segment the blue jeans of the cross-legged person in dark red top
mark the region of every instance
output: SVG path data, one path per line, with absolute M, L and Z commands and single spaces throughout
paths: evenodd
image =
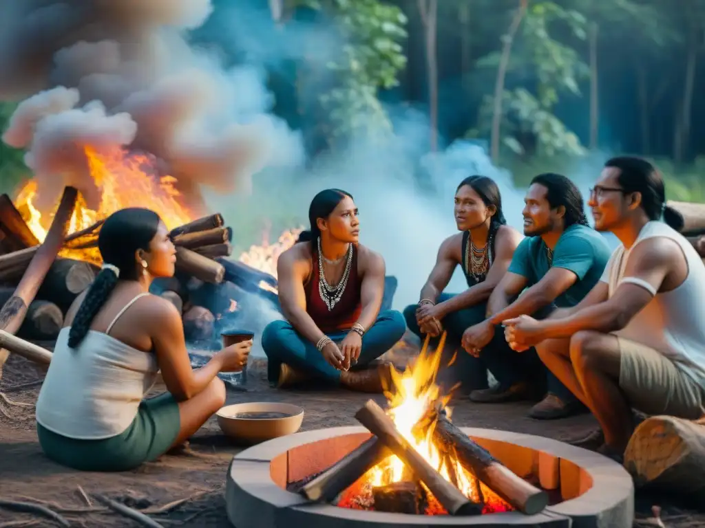
M 381 312 L 374 325 L 362 337 L 362 352 L 355 369 L 369 365 L 399 341 L 406 330 L 403 316 L 394 310 Z M 326 334 L 333 341 L 342 341 L 347 330 Z M 317 350 L 316 344 L 299 334 L 288 321 L 272 321 L 262 332 L 262 348 L 267 357 L 269 381 L 276 383 L 282 363 L 307 372 L 330 384 L 338 384 L 341 371 L 330 365 Z

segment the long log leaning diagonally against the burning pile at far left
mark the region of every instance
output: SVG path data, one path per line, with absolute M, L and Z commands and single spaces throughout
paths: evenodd
M 23 275 L 20 284 L 15 289 L 15 293 L 0 310 L 0 329 L 14 334 L 22 325 L 27 314 L 27 307 L 37 295 L 44 277 L 49 272 L 51 264 L 54 263 L 56 255 L 59 254 L 61 246 L 63 246 L 68 222 L 71 220 L 76 199 L 78 199 L 78 191 L 73 187 L 66 187 L 61 196 L 59 208 L 56 210 L 56 215 L 54 215 L 54 220 L 51 222 L 51 227 L 49 227 L 49 232 L 47 232 L 47 237 L 32 258 L 25 275 Z M 0 369 L 5 364 L 7 356 L 7 352 L 0 351 Z

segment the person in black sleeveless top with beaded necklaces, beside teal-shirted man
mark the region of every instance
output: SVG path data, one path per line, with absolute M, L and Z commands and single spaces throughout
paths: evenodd
M 484 321 L 486 301 L 507 271 L 522 235 L 506 225 L 499 188 L 485 176 L 470 176 L 458 185 L 455 224 L 460 233 L 441 244 L 436 265 L 421 289 L 421 300 L 407 306 L 404 318 L 422 339 L 423 334 L 436 337 L 443 329 L 448 332 L 439 384 L 448 390 L 460 383 L 460 394 L 469 394 L 487 388 L 487 367 L 462 349 L 462 333 Z M 457 295 L 441 293 L 458 265 L 468 289 Z

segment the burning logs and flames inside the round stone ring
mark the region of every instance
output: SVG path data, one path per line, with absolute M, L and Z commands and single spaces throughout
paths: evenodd
M 445 334 L 438 350 L 443 348 Z M 341 508 L 419 515 L 534 515 L 546 491 L 518 477 L 450 419 L 450 394 L 435 383 L 441 353 L 429 351 L 393 372 L 387 410 L 374 401 L 355 417 L 374 436 L 319 474 L 288 486 Z

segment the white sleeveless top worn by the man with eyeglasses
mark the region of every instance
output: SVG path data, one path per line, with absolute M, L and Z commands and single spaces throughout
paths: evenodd
M 688 275 L 672 291 L 658 293 L 651 284 L 637 277 L 624 277 L 632 249 L 653 237 L 675 241 L 687 260 Z M 661 352 L 705 388 L 705 265 L 702 259 L 685 237 L 663 222 L 646 223 L 632 249 L 625 250 L 622 244 L 615 249 L 602 281 L 609 286 L 609 296 L 613 296 L 621 282 L 630 282 L 647 289 L 654 298 L 625 328 L 614 333 Z

